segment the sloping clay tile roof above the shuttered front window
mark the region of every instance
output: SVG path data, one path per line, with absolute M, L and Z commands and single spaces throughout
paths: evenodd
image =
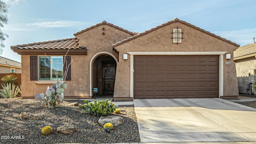
M 67 38 L 62 40 L 52 40 L 47 42 L 37 42 L 31 44 L 22 44 L 11 46 L 11 49 L 66 49 L 79 48 L 79 40 L 77 38 Z

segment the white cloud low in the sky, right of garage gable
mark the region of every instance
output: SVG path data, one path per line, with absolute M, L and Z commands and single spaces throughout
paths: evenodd
M 246 28 L 241 30 L 232 30 L 232 31 L 216 31 L 214 34 L 231 40 L 244 46 L 246 44 L 251 44 L 253 42 L 252 38 L 256 37 L 256 28 Z

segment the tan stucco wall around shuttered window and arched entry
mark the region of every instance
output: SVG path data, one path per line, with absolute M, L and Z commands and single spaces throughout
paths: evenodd
M 105 30 L 102 30 L 104 28 Z M 104 32 L 104 35 L 102 35 Z M 78 34 L 80 46 L 88 46 L 87 55 L 72 55 L 71 81 L 66 81 L 68 87 L 64 94 L 67 97 L 87 98 L 90 96 L 90 60 L 98 52 L 110 52 L 118 59 L 118 54 L 112 50 L 112 44 L 132 35 L 103 24 Z M 97 56 L 95 57 L 97 58 Z M 94 59 L 95 59 L 94 58 Z M 22 55 L 22 97 L 31 98 L 36 93 L 45 93 L 51 84 L 37 84 L 30 81 L 30 56 Z

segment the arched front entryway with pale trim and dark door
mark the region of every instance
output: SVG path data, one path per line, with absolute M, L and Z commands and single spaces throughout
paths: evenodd
M 95 54 L 90 62 L 90 96 L 93 88 L 98 88 L 98 95 L 114 94 L 117 58 L 109 52 Z

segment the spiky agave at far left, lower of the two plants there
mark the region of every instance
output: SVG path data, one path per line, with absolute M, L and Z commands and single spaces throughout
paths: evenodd
M 2 89 L 0 90 L 0 95 L 3 96 L 4 98 L 14 98 L 18 94 L 21 94 L 21 90 L 19 86 L 16 86 L 14 83 L 11 85 L 9 84 L 4 84 L 2 85 Z

